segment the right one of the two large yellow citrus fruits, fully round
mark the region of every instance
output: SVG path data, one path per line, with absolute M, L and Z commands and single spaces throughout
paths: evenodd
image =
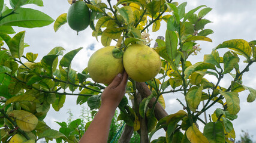
M 143 44 L 128 46 L 124 52 L 123 63 L 128 76 L 137 82 L 152 79 L 161 69 L 158 53 Z

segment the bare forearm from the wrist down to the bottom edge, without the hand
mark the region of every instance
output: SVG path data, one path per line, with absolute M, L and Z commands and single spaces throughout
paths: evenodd
M 109 129 L 116 108 L 109 105 L 101 105 L 100 110 L 92 120 L 91 125 L 86 130 L 85 135 L 80 140 L 80 143 L 86 142 L 107 142 Z

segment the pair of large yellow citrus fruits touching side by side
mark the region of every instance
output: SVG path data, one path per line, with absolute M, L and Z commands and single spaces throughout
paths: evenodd
M 92 80 L 109 84 L 118 73 L 124 70 L 131 79 L 146 82 L 158 74 L 161 69 L 161 59 L 158 53 L 143 44 L 128 46 L 122 58 L 113 57 L 115 46 L 99 49 L 88 61 L 88 71 Z

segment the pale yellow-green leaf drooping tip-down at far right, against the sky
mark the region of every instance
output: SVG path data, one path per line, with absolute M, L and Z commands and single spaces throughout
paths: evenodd
M 219 93 L 226 99 L 228 112 L 236 115 L 240 110 L 239 95 L 236 92 L 224 92 L 221 90 L 219 90 Z

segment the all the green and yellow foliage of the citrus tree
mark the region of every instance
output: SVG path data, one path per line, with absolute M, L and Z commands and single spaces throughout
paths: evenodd
M 110 0 L 107 1 L 108 5 L 101 1 L 85 2 L 92 14 L 92 35 L 96 39 L 101 36 L 104 46 L 119 40 L 121 48 L 125 50 L 131 43 L 145 42 L 141 33 L 149 31 L 150 26 L 152 32 L 155 32 L 159 30 L 161 22 L 167 22 L 165 41 L 156 40 L 158 46 L 155 51 L 162 58 L 159 78 L 146 82 L 152 94 L 139 104 L 136 103 L 134 108 L 128 105 L 128 98 L 124 97 L 119 104 L 121 114 L 118 120 L 124 120 L 140 133 L 141 120 L 146 119 L 149 138 L 157 130 L 164 128 L 166 135 L 152 142 L 231 142 L 229 138 L 235 138 L 231 120 L 237 118 L 236 114 L 240 110 L 239 92 L 249 91 L 248 102 L 253 102 L 256 98 L 255 89 L 242 84 L 243 73 L 249 71 L 249 66 L 256 61 L 256 41 L 225 41 L 216 46 L 211 54 L 204 55 L 204 61 L 192 64 L 188 57 L 198 50 L 196 41 L 212 41 L 206 36 L 213 31 L 204 29 L 210 21 L 203 18 L 211 8 L 201 5 L 185 13 L 186 2 L 179 5 L 168 0 L 120 0 L 113 6 Z M 13 9 L 9 10 L 3 1 L 0 3 L 0 40 L 8 46 L 5 49 L 1 45 L 0 51 L 0 96 L 3 97 L 0 110 L 1 141 L 8 142 L 11 136 L 19 133 L 32 142 L 41 138 L 46 141 L 55 138 L 58 142 L 61 139 L 77 142 L 77 132 L 68 130 L 76 129 L 75 124 L 82 121 L 74 120 L 69 125 L 59 123 L 63 128 L 59 131 L 50 129 L 43 122 L 50 105 L 59 111 L 66 95 L 77 95 L 77 104 L 87 102 L 91 110 L 95 110 L 100 107 L 101 92 L 106 85 L 90 82 L 87 69 L 81 73 L 71 69 L 74 56 L 82 48 L 64 55 L 64 48 L 55 47 L 38 62 L 37 54 L 28 52 L 23 55 L 23 48 L 27 46 L 24 43 L 25 32 L 19 32 L 11 38 L 8 35 L 14 33 L 11 26 L 41 27 L 53 21 L 40 11 L 22 8 L 22 5 L 30 3 L 43 5 L 41 0 L 11 0 Z M 198 14 L 195 14 L 198 10 Z M 55 31 L 67 22 L 65 15 L 57 18 Z M 222 57 L 217 51 L 221 48 L 228 48 Z M 59 57 L 62 57 L 61 60 Z M 240 57 L 246 59 L 247 66 L 244 69 L 239 67 Z M 206 74 L 215 76 L 218 82 L 210 82 L 204 78 Z M 233 77 L 230 86 L 219 86 L 219 82 L 228 74 Z M 136 91 L 135 82 L 130 79 L 127 84 L 129 99 L 137 100 Z M 165 108 L 163 95 L 173 92 L 183 93 L 184 97 L 180 98 L 186 102 L 184 104 L 179 101 L 184 110 L 157 120 L 153 114 L 156 102 L 153 108 L 149 108 L 150 100 L 156 98 L 162 108 Z M 203 108 L 198 108 L 202 101 L 206 101 L 206 104 Z M 200 115 L 215 104 L 222 107 L 216 108 L 210 122 L 205 123 Z M 205 124 L 203 133 L 198 129 L 198 121 Z

